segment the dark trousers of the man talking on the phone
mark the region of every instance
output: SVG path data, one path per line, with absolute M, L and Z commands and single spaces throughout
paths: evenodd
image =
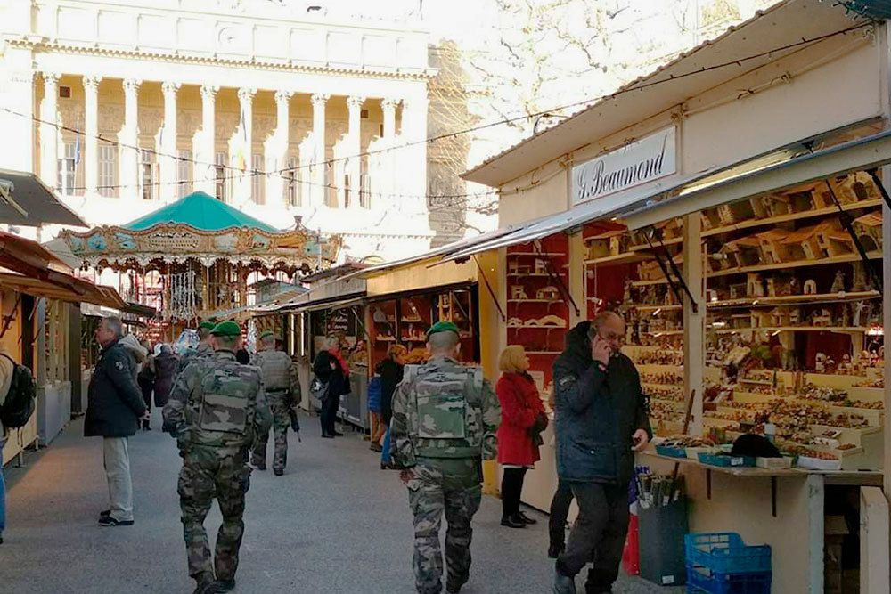
M 578 518 L 566 550 L 557 558 L 557 571 L 576 575 L 593 560 L 585 591 L 609 592 L 618 577 L 628 533 L 628 487 L 576 482 L 569 487 L 578 502 Z

